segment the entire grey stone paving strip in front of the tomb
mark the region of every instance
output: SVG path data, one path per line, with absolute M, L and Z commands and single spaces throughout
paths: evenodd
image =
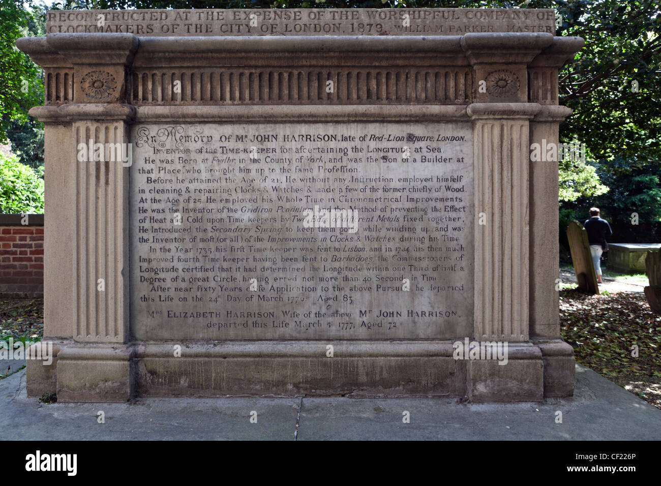
M 24 370 L 0 381 L 3 440 L 658 440 L 661 410 L 583 366 L 573 399 L 217 398 L 54 403 L 25 392 Z M 300 415 L 299 415 L 300 408 Z M 97 423 L 104 411 L 105 423 Z M 250 422 L 251 411 L 257 423 Z M 410 423 L 403 423 L 403 411 Z M 556 423 L 556 412 L 563 423 Z M 297 421 L 298 419 L 298 421 Z M 295 433 L 297 432 L 297 435 Z

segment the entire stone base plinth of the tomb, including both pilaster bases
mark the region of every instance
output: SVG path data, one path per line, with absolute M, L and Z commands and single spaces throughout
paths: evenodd
M 98 402 L 241 395 L 511 402 L 568 397 L 574 389 L 574 352 L 561 340 L 508 343 L 506 359 L 495 353 L 455 359 L 453 341 L 161 341 L 57 349 L 50 366 L 28 361 L 28 395 Z

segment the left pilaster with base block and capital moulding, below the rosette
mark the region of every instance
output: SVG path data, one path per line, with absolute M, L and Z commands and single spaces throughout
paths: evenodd
M 56 380 L 61 401 L 125 401 L 132 396 L 134 381 L 133 350 L 127 344 L 128 164 L 132 161 L 128 126 L 136 110 L 124 104 L 73 103 L 33 108 L 30 113 L 51 127 L 48 132 L 58 127 L 59 151 L 68 158 L 56 171 L 70 178 L 46 200 L 47 206 L 65 208 L 71 225 L 71 238 L 56 244 L 46 259 L 44 283 L 52 289 L 52 297 L 61 282 L 72 289 L 71 302 L 49 300 L 46 308 L 47 317 L 56 317 L 53 309 L 63 306 L 72 321 L 67 327 L 48 323 L 52 329 L 64 329 L 65 338 L 71 340 L 58 346 L 57 373 L 49 376 Z M 55 236 L 58 231 L 50 229 Z M 70 274 L 51 271 L 50 266 Z M 31 365 L 30 376 L 45 373 Z M 89 379 L 81 382 L 81 374 Z

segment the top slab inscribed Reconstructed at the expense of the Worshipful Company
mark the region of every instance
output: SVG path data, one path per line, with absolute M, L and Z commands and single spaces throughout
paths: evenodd
M 552 9 L 196 9 L 48 11 L 46 33 L 136 36 L 461 36 L 549 32 Z

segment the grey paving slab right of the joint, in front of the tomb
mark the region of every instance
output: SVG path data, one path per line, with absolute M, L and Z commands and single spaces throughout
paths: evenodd
M 661 410 L 576 366 L 573 399 L 544 403 L 306 398 L 299 440 L 658 440 Z M 403 423 L 403 412 L 410 423 Z M 556 423 L 556 412 L 562 423 Z

